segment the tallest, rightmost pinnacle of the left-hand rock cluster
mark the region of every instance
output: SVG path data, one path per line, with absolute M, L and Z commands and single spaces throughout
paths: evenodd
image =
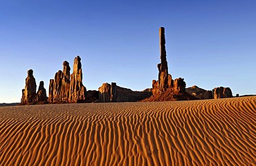
M 80 56 L 75 57 L 73 65 L 73 74 L 71 74 L 71 83 L 69 91 L 70 103 L 77 103 L 85 100 L 86 88 L 82 84 L 82 64 Z

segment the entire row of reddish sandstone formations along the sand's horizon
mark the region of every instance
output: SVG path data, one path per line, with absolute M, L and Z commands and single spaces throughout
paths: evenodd
M 134 102 L 134 101 L 183 101 L 211 98 L 232 97 L 229 87 L 215 87 L 213 90 L 203 90 L 199 87 L 186 87 L 184 79 L 172 79 L 168 73 L 167 54 L 165 49 L 165 28 L 159 29 L 160 59 L 158 63 L 158 80 L 152 81 L 152 88 L 132 91 L 120 87 L 116 83 L 103 83 L 96 90 L 86 91 L 82 83 L 82 63 L 80 56 L 76 56 L 73 63 L 73 73 L 67 61 L 63 62 L 63 69 L 55 73 L 50 80 L 48 97 L 44 88 L 44 81 L 40 81 L 36 92 L 36 81 L 33 70 L 28 70 L 25 89 L 22 90 L 21 105 L 44 103 L 92 103 L 92 102 Z M 188 91 L 188 92 L 187 92 Z

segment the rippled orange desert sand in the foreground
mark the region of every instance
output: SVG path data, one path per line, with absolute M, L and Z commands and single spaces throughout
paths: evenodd
M 0 107 L 0 165 L 256 165 L 256 97 Z

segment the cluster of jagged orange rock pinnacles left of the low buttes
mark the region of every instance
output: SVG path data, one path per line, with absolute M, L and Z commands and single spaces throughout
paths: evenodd
M 63 62 L 63 70 L 55 73 L 49 83 L 49 95 L 46 96 L 44 81 L 39 83 L 36 92 L 36 81 L 33 70 L 28 70 L 25 89 L 22 90 L 21 105 L 36 103 L 80 103 L 86 100 L 86 87 L 82 84 L 82 63 L 80 56 L 76 56 L 73 73 L 67 61 Z

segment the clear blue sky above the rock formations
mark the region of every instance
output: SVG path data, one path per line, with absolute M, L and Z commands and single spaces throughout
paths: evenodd
M 49 79 L 82 58 L 83 83 L 131 90 L 158 78 L 158 28 L 165 27 L 173 78 L 206 90 L 256 94 L 256 1 L 48 1 L 0 4 L 0 103 L 19 102 L 27 70 Z

